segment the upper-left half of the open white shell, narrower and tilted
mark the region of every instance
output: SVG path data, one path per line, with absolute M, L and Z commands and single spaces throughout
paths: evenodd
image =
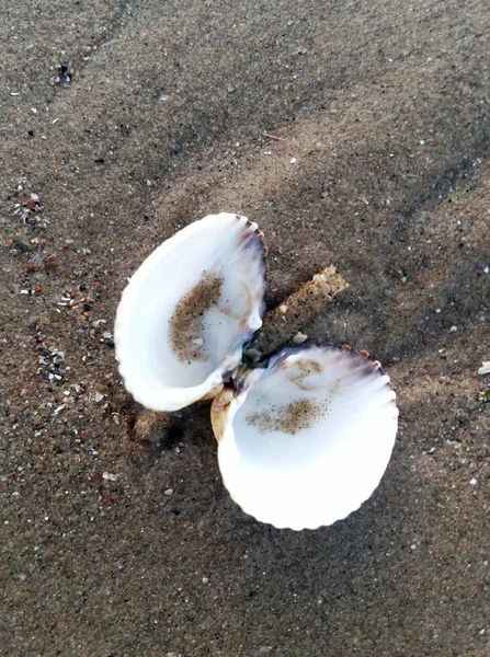
M 176 411 L 223 388 L 262 324 L 262 237 L 246 217 L 212 215 L 163 242 L 137 269 L 114 331 L 119 371 L 137 402 Z

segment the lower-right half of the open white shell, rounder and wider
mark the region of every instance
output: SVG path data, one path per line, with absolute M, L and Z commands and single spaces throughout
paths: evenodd
M 277 528 L 316 529 L 372 495 L 397 424 L 378 362 L 331 346 L 297 348 L 242 382 L 217 436 L 219 468 L 246 512 Z

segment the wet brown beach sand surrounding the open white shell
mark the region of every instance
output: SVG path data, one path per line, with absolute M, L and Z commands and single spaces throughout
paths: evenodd
M 487 3 L 4 0 L 0 20 L 2 654 L 488 656 Z M 307 332 L 397 388 L 389 469 L 333 527 L 246 517 L 207 405 L 134 436 L 118 297 L 219 210 L 265 232 L 270 304 L 335 264 L 351 288 Z

